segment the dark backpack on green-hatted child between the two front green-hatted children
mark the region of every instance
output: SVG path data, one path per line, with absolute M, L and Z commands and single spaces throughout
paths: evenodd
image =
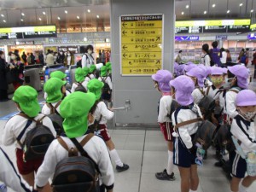
M 63 118 L 61 117 L 61 114 L 58 113 L 57 108 L 61 105 L 61 101 L 57 102 L 55 107 L 51 103 L 46 103 L 47 107 L 50 108 L 50 114 L 48 115 L 49 119 L 52 121 L 52 124 L 55 127 L 55 131 L 57 133 L 57 136 L 60 136 L 61 133 L 64 132 L 63 130 Z

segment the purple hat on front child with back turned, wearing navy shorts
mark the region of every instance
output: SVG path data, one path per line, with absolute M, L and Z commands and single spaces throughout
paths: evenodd
M 195 89 L 195 84 L 189 77 L 182 75 L 170 81 L 170 86 L 175 88 L 175 98 L 178 104 L 188 106 L 194 102 L 191 95 Z

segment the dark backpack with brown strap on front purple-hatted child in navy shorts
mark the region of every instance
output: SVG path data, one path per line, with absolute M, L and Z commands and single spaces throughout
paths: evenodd
M 195 133 L 195 137 L 192 142 L 194 144 L 195 143 L 201 144 L 202 148 L 207 150 L 212 144 L 213 133 L 215 132 L 216 125 L 212 124 L 209 120 L 202 119 L 201 117 L 199 117 L 198 113 L 197 113 L 198 117 L 196 119 L 190 119 L 177 124 L 178 111 L 179 110 L 176 110 L 174 113 L 174 117 L 176 121 L 176 125 L 174 126 L 174 131 L 176 131 L 181 126 L 198 123 L 199 124 L 198 129 Z

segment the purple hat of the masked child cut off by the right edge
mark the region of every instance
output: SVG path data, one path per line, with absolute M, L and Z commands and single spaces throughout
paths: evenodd
M 236 96 L 236 106 L 255 106 L 256 93 L 253 90 L 241 90 Z

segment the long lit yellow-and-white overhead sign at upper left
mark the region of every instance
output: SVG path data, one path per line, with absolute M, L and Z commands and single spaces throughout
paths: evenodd
M 0 39 L 55 38 L 56 26 L 18 26 L 0 28 Z

